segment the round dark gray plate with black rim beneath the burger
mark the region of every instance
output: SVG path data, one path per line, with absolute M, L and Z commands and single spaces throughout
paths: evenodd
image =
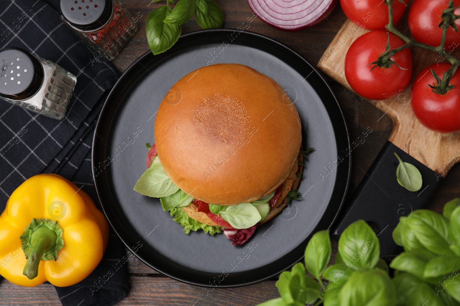
M 281 84 L 299 111 L 304 148 L 315 148 L 299 187 L 303 199 L 240 247 L 224 234 L 184 234 L 159 199 L 132 190 L 145 171 L 145 143 L 155 141 L 155 114 L 167 90 L 185 74 L 216 63 L 244 64 Z M 235 287 L 288 269 L 302 258 L 312 232 L 330 228 L 348 188 L 350 156 L 337 165 L 338 151 L 348 147 L 337 100 L 309 62 L 260 34 L 207 30 L 182 36 L 164 54 L 145 53 L 123 73 L 98 120 L 93 175 L 110 224 L 147 265 L 189 284 Z

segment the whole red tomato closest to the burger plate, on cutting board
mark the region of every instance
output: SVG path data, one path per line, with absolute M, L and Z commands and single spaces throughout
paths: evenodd
M 403 91 L 412 74 L 412 56 L 409 49 L 399 51 L 390 57 L 396 65 L 389 68 L 369 65 L 377 61 L 385 52 L 388 41 L 387 31 L 372 31 L 361 35 L 350 46 L 345 56 L 345 77 L 358 95 L 372 100 L 385 100 L 398 95 Z M 404 45 L 404 41 L 390 33 L 390 45 L 396 49 Z

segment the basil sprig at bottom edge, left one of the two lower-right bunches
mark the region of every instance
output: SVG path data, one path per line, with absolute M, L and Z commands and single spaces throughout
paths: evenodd
M 314 234 L 305 249 L 306 271 L 300 262 L 281 273 L 276 282 L 281 298 L 258 306 L 396 305 L 396 288 L 385 261 L 379 260 L 379 240 L 367 223 L 359 220 L 345 229 L 335 264 L 327 267 L 331 254 L 329 231 Z M 329 281 L 327 286 L 322 278 Z

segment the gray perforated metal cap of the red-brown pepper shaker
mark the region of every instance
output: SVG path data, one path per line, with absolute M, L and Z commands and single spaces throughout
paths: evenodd
M 101 28 L 112 14 L 112 0 L 61 0 L 61 13 L 75 28 L 95 30 Z

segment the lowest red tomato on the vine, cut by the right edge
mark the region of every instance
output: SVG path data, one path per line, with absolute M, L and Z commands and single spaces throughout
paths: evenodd
M 435 94 L 428 84 L 437 85 L 430 69 L 439 79 L 451 67 L 448 63 L 433 64 L 420 72 L 412 87 L 410 102 L 415 117 L 427 128 L 439 133 L 452 133 L 460 130 L 460 73 L 454 73 L 449 85 L 454 85 L 444 95 Z

